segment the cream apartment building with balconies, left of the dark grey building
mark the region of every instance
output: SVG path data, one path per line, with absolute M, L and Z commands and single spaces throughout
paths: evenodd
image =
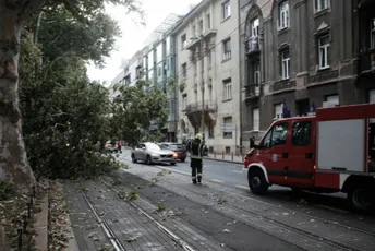
M 173 29 L 179 141 L 201 132 L 209 151 L 240 148 L 238 0 L 205 0 Z

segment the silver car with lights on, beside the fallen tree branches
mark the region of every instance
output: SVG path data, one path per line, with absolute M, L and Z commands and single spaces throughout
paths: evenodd
M 178 154 L 170 150 L 162 150 L 158 144 L 146 142 L 138 144 L 132 151 L 132 162 L 145 162 L 150 165 L 153 163 L 169 163 L 176 165 Z

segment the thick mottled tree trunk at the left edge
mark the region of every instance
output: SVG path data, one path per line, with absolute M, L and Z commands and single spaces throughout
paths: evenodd
M 27 164 L 19 106 L 17 67 L 22 27 L 19 14 L 0 0 L 0 180 L 28 190 L 35 178 Z

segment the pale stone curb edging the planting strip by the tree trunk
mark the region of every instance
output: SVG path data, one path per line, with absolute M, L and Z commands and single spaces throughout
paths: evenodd
M 40 212 L 35 215 L 35 249 L 48 250 L 48 191 L 39 201 Z

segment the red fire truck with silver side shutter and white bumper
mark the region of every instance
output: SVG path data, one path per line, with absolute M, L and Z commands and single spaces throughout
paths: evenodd
M 278 184 L 322 193 L 344 192 L 355 212 L 375 206 L 375 104 L 317 109 L 314 116 L 274 121 L 251 140 L 243 172 L 255 194 Z

